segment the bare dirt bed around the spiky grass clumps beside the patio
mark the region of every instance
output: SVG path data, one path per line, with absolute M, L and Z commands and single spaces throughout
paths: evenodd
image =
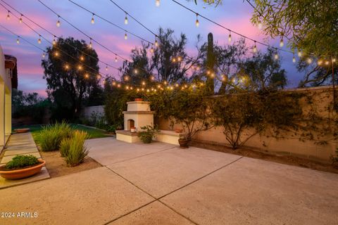
M 52 152 L 40 151 L 40 154 L 42 159 L 46 160 L 46 168 L 48 169 L 51 178 L 101 167 L 98 162 L 89 157 L 87 157 L 84 162 L 82 162 L 80 165 L 77 165 L 76 167 L 68 167 L 65 163 L 65 160 L 63 160 L 61 157 L 60 151 L 58 150 Z

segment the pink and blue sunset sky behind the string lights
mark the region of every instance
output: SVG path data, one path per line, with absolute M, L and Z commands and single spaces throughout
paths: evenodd
M 45 27 L 47 30 L 55 33 L 58 36 L 63 37 L 75 37 L 75 39 L 84 39 L 89 42 L 89 39 L 83 34 L 75 30 L 70 25 L 67 25 L 63 20 L 61 20 L 61 27 L 56 27 L 56 21 L 58 20 L 57 16 L 51 13 L 47 8 L 37 0 L 4 0 L 6 3 L 13 6 L 16 10 L 23 13 L 27 17 L 34 20 L 42 27 Z M 79 8 L 72 4 L 68 0 L 42 0 L 44 4 L 51 7 L 59 15 L 66 18 L 77 27 L 79 27 L 83 32 L 89 34 L 97 41 L 101 42 L 108 48 L 112 49 L 116 53 L 129 58 L 130 50 L 135 46 L 140 46 L 141 41 L 136 37 L 128 36 L 128 39 L 124 39 L 124 32 L 119 30 L 116 27 L 106 23 L 99 18 L 95 18 L 94 25 L 91 24 L 92 14 L 84 11 L 82 8 Z M 73 0 L 77 4 L 88 8 L 90 11 L 101 15 L 103 18 L 111 20 L 113 23 L 125 27 L 126 30 L 130 30 L 135 34 L 138 34 L 144 39 L 149 41 L 154 41 L 154 35 L 140 26 L 132 18 L 129 18 L 128 25 L 124 24 L 125 13 L 120 11 L 114 4 L 109 0 Z M 199 27 L 195 26 L 196 15 L 187 11 L 175 4 L 171 0 L 161 0 L 161 6 L 156 7 L 155 0 L 114 0 L 122 8 L 125 9 L 128 13 L 133 15 L 135 18 L 139 19 L 146 27 L 149 27 L 150 30 L 157 32 L 158 27 L 171 28 L 175 30 L 175 35 L 178 35 L 183 32 L 187 35 L 188 45 L 187 52 L 190 56 L 196 55 L 196 36 L 201 34 L 203 40 L 206 40 L 208 32 L 212 32 L 214 35 L 214 40 L 218 44 L 227 44 L 227 36 L 229 32 L 223 30 L 216 25 L 199 18 Z M 225 27 L 230 28 L 236 32 L 242 33 L 248 37 L 256 39 L 258 41 L 265 41 L 266 43 L 278 46 L 279 40 L 266 39 L 258 27 L 254 27 L 250 23 L 251 13 L 253 8 L 245 1 L 239 0 L 224 0 L 223 5 L 218 6 L 217 8 L 199 4 L 196 6 L 193 1 L 184 1 L 177 0 L 180 3 L 188 6 L 189 8 L 198 11 L 202 15 L 205 15 L 212 20 L 217 21 L 218 23 L 224 25 Z M 4 2 L 1 0 L 1 4 Z M 6 4 L 4 4 L 6 6 Z M 8 7 L 8 6 L 6 6 Z M 13 10 L 11 12 L 15 13 Z M 23 23 L 19 23 L 18 19 L 14 18 L 11 15 L 10 20 L 6 20 L 7 11 L 5 8 L 0 6 L 0 24 L 8 29 L 12 30 L 16 34 L 25 37 L 30 40 L 32 43 L 37 44 L 37 39 L 39 38 L 37 34 L 32 32 L 28 27 Z M 20 16 L 18 13 L 15 15 Z M 41 33 L 44 37 L 52 41 L 53 37 L 50 34 L 37 27 L 36 25 L 30 23 L 30 21 L 23 20 L 32 26 L 37 32 Z M 0 27 L 0 44 L 4 49 L 6 54 L 15 56 L 18 59 L 18 89 L 32 92 L 35 91 L 42 96 L 46 96 L 46 81 L 42 79 L 43 69 L 41 67 L 42 60 L 42 51 L 39 51 L 30 44 L 25 43 L 25 41 L 20 41 L 20 44 L 16 44 L 16 38 L 13 34 L 8 33 L 6 30 Z M 236 34 L 232 34 L 232 39 L 236 40 L 239 37 Z M 252 41 L 248 41 L 248 44 L 253 44 Z M 38 44 L 37 44 L 38 45 Z M 43 49 L 48 46 L 49 43 L 42 39 L 42 44 L 39 46 Z M 99 59 L 111 63 L 116 67 L 121 65 L 121 60 L 118 63 L 114 62 L 115 55 L 106 51 L 101 46 L 94 44 L 94 49 L 99 55 Z M 265 47 L 257 45 L 258 50 L 264 50 Z M 286 48 L 284 46 L 284 48 Z M 292 54 L 290 53 L 281 53 L 282 56 L 282 67 L 287 70 L 287 77 L 289 79 L 289 87 L 297 86 L 299 80 L 303 75 L 296 72 L 296 67 L 292 63 Z M 101 72 L 106 74 L 105 65 L 100 65 Z M 118 75 L 116 70 L 110 68 L 108 70 L 109 74 Z

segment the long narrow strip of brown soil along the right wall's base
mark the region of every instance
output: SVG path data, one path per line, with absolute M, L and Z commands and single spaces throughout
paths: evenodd
M 268 153 L 262 153 L 256 150 L 249 150 L 249 149 L 243 149 L 243 148 L 233 150 L 232 148 L 229 148 L 227 146 L 219 146 L 219 145 L 210 144 L 210 143 L 200 143 L 196 141 L 192 141 L 192 143 L 190 143 L 190 146 L 194 146 L 198 148 L 206 148 L 209 150 L 215 150 L 215 151 L 219 151 L 223 153 L 230 153 L 234 155 L 243 155 L 249 158 L 256 158 L 256 159 L 266 160 L 270 162 L 278 162 L 278 163 L 282 163 L 286 165 L 306 167 L 310 169 L 316 169 L 320 171 L 332 172 L 332 173 L 338 174 L 338 167 L 334 167 L 331 164 L 325 164 L 322 162 L 315 162 L 313 160 L 302 159 L 302 158 L 298 158 L 293 155 L 270 155 Z

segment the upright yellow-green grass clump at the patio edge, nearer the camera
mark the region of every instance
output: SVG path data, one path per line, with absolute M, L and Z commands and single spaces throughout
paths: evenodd
M 85 131 L 75 131 L 68 141 L 63 142 L 63 147 L 69 146 L 68 150 L 63 150 L 65 154 L 65 162 L 68 166 L 74 167 L 83 162 L 88 155 L 88 148 L 84 146 L 84 141 L 89 138 Z

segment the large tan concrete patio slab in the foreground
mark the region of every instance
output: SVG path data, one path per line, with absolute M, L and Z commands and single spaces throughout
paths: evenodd
M 338 174 L 166 143 L 92 139 L 103 167 L 0 190 L 0 224 L 337 224 Z M 48 163 L 48 162 L 47 162 Z

